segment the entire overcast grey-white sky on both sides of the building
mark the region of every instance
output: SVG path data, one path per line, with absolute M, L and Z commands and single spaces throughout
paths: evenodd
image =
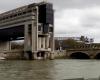
M 0 13 L 41 0 L 0 0 Z M 43 1 L 43 0 L 42 0 Z M 100 42 L 100 0 L 48 0 L 55 9 L 55 36 L 94 38 Z

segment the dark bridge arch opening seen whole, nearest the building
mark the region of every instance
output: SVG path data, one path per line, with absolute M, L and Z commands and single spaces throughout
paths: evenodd
M 71 59 L 90 59 L 89 55 L 83 52 L 74 52 L 69 57 Z

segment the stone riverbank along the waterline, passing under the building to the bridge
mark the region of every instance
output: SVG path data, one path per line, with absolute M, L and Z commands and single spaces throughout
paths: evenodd
M 31 53 L 30 57 L 34 57 L 34 54 Z M 37 54 L 37 59 L 50 59 L 50 57 L 54 57 L 54 59 L 65 59 L 66 58 L 66 51 L 54 51 L 53 54 L 45 54 L 44 57 L 40 57 Z M 28 54 L 25 54 L 22 50 L 14 50 L 14 51 L 2 51 L 0 52 L 0 59 L 5 60 L 21 60 L 26 59 Z

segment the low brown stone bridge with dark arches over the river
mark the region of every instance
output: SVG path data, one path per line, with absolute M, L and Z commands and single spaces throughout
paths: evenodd
M 66 56 L 72 59 L 100 59 L 100 49 L 68 49 Z

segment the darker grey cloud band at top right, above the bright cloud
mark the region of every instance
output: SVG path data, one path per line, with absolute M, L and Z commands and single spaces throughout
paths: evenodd
M 53 0 L 59 8 L 86 8 L 100 5 L 100 0 Z

